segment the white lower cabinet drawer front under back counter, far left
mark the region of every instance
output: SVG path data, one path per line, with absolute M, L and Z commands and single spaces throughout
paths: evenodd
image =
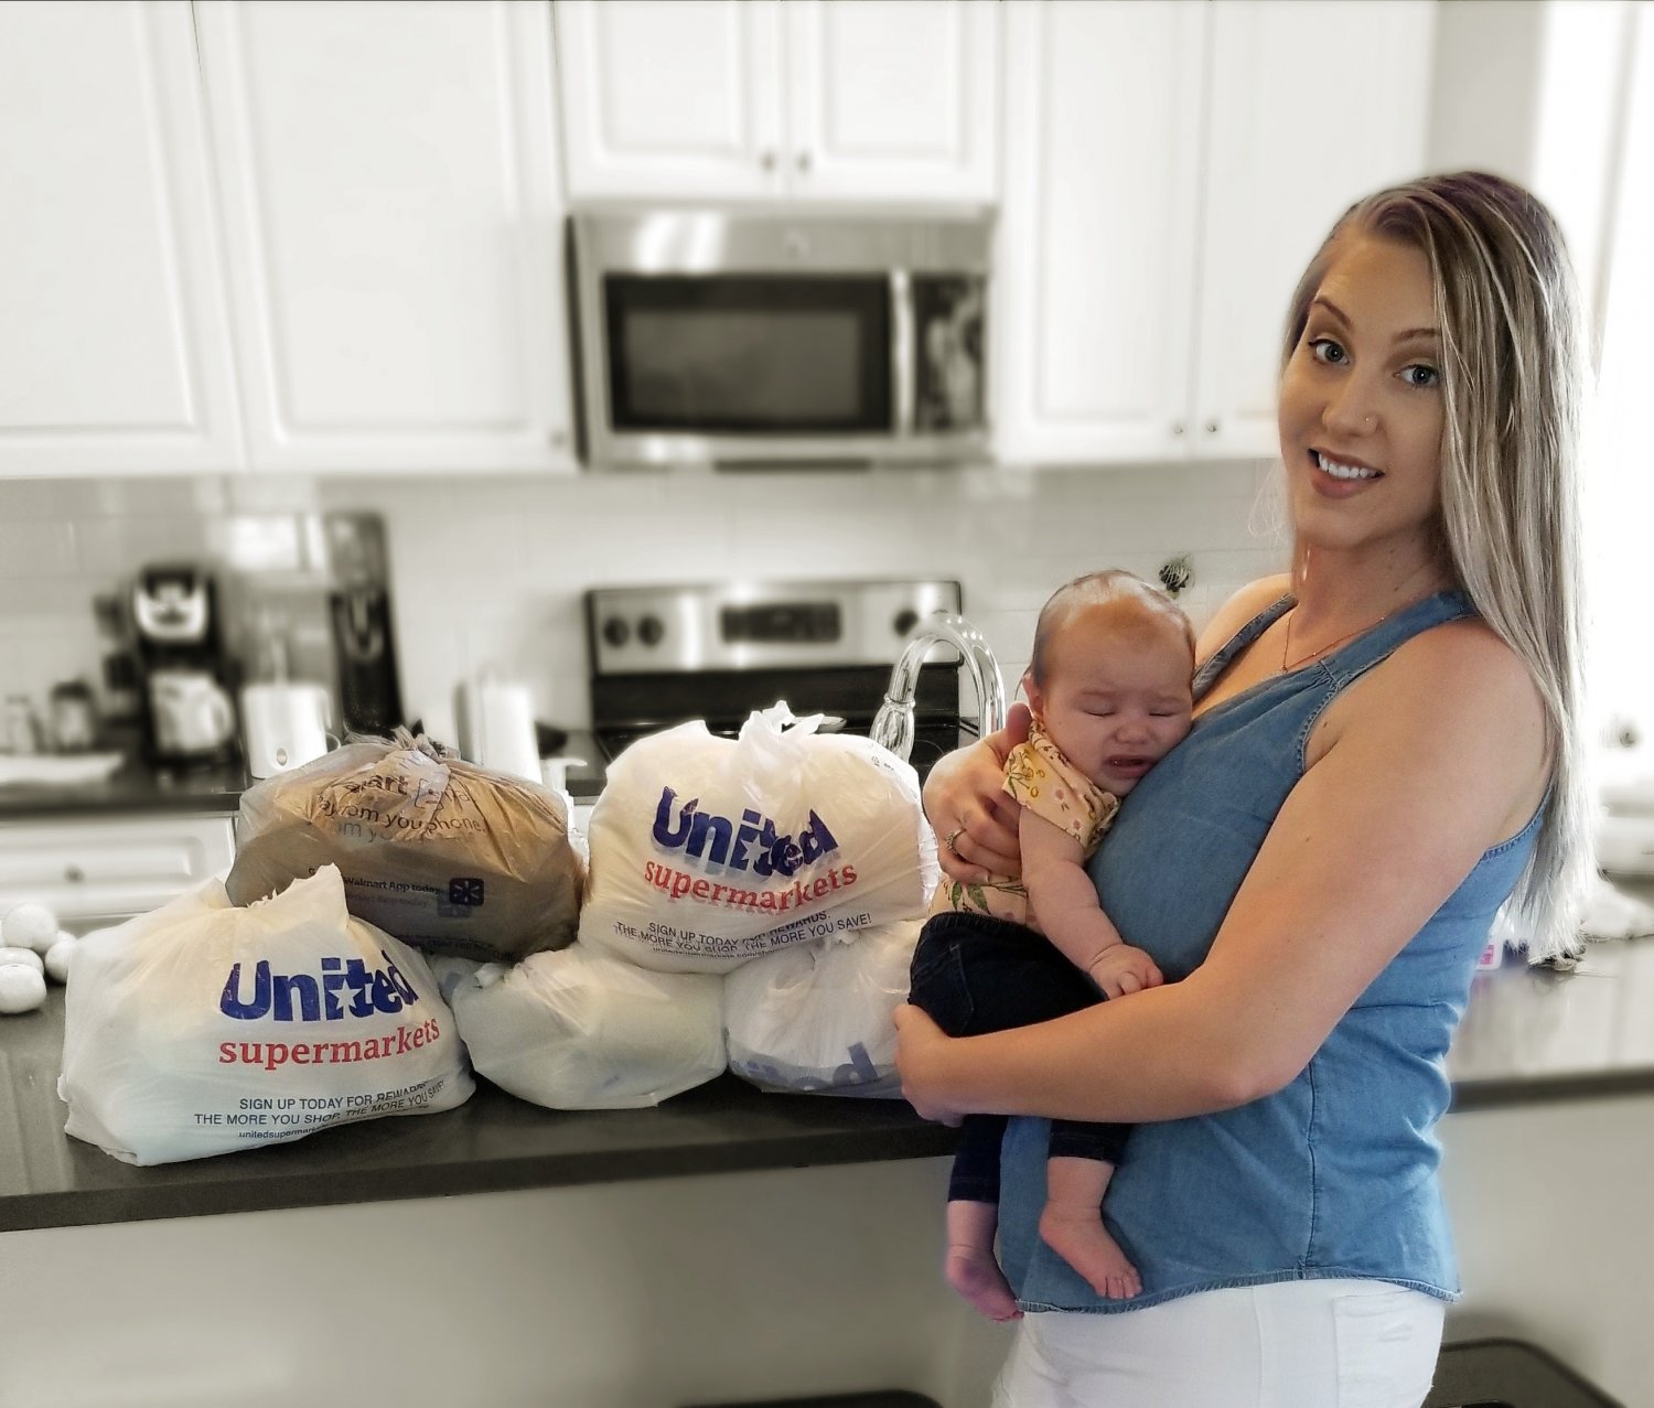
M 232 816 L 0 822 L 0 913 L 35 900 L 65 922 L 126 918 L 233 860 Z

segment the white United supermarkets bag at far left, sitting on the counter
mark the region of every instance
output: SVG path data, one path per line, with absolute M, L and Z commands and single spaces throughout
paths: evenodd
M 170 1163 L 463 1104 L 425 960 L 352 918 L 332 865 L 237 908 L 220 880 L 76 945 L 66 1133 Z

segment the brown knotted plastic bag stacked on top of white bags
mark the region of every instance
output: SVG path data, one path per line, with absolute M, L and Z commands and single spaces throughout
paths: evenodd
M 586 867 L 562 801 L 405 730 L 356 740 L 241 794 L 230 898 L 321 865 L 351 913 L 428 953 L 514 961 L 574 941 Z

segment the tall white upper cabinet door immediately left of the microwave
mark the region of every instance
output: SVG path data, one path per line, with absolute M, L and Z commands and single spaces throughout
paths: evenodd
M 547 7 L 195 17 L 251 468 L 572 468 Z

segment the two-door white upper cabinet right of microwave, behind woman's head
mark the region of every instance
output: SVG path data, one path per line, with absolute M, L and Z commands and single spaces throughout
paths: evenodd
M 1429 0 L 1007 7 L 999 455 L 1277 452 L 1287 301 L 1424 167 Z

